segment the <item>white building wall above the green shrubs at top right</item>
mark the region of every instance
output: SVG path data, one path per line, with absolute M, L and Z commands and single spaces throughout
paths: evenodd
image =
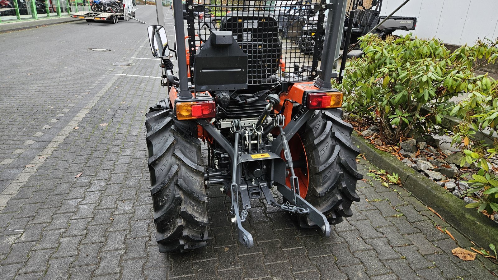
M 383 0 L 380 14 L 389 14 L 402 2 Z M 498 37 L 498 0 L 410 0 L 394 15 L 416 16 L 417 26 L 411 32 L 420 38 L 474 45 L 477 39 Z

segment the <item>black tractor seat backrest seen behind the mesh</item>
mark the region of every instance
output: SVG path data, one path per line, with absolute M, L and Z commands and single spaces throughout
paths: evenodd
M 267 84 L 280 67 L 282 44 L 278 22 L 267 11 L 232 11 L 223 17 L 220 30 L 232 31 L 248 55 L 248 84 Z

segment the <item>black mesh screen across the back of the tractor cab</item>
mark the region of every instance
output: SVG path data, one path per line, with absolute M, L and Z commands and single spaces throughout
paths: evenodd
M 191 68 L 211 32 L 225 30 L 248 54 L 249 85 L 272 84 L 291 73 L 300 80 L 317 76 L 325 0 L 187 0 L 185 6 Z

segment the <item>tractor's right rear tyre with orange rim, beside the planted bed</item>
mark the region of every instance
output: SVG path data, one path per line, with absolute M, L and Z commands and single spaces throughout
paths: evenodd
M 300 193 L 327 217 L 330 224 L 351 217 L 351 204 L 360 201 L 356 183 L 363 176 L 356 171 L 356 157 L 360 152 L 351 142 L 352 131 L 353 127 L 342 120 L 341 109 L 317 111 L 296 135 L 302 144 L 292 143 L 299 140 L 296 136 L 289 141 L 293 159 L 296 153 L 292 150 L 304 147 L 306 155 L 298 157 L 307 162 L 299 164 L 301 168 L 296 171 L 299 184 L 307 185 L 300 186 Z M 301 227 L 316 226 L 306 215 L 296 218 Z

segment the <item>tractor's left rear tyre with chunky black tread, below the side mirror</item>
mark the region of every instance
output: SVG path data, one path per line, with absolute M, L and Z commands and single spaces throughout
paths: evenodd
M 175 125 L 161 102 L 145 119 L 150 193 L 159 251 L 179 253 L 206 245 L 208 198 L 200 142 Z

